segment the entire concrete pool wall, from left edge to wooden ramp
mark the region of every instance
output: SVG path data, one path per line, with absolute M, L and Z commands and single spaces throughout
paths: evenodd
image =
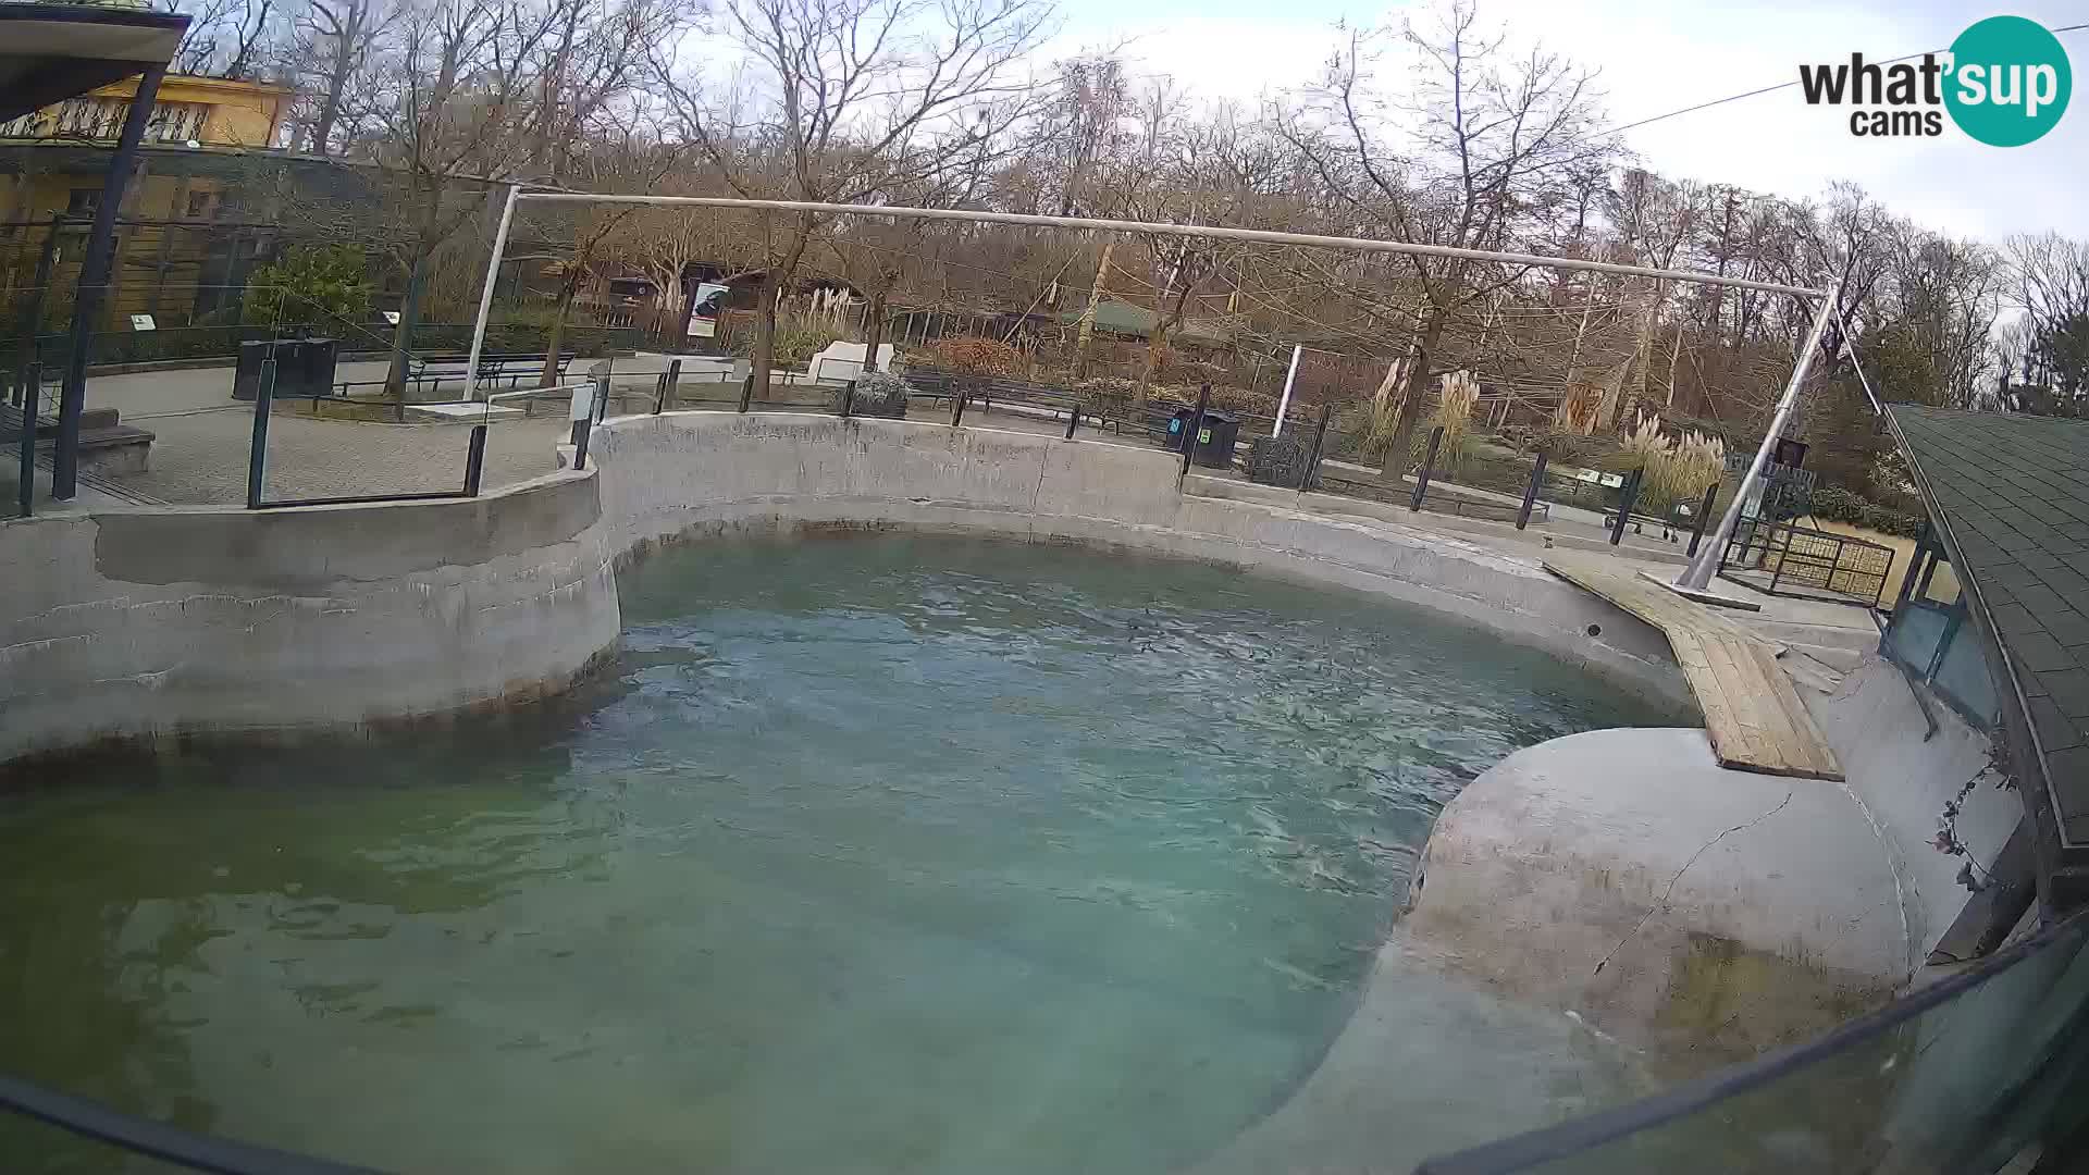
M 1443 535 L 1184 493 L 1143 445 L 825 414 L 610 420 L 585 473 L 476 500 L 81 508 L 0 523 L 0 763 L 361 730 L 556 692 L 616 646 L 614 567 L 727 531 L 911 527 L 1337 583 L 1688 707 L 1663 638 Z

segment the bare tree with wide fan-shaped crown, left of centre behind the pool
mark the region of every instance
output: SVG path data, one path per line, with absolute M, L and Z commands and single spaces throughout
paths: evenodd
M 748 61 L 742 86 L 664 54 L 654 73 L 681 134 L 735 192 L 859 203 L 1007 125 L 1005 107 L 1036 94 L 1019 65 L 1049 17 L 1044 0 L 737 0 L 723 23 Z M 765 234 L 752 393 L 769 387 L 777 299 L 819 232 L 813 213 L 779 220 Z

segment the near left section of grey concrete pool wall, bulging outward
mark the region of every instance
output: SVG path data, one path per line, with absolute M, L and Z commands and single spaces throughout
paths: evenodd
M 357 730 L 558 692 L 616 646 L 591 475 L 292 510 L 0 525 L 0 761 Z

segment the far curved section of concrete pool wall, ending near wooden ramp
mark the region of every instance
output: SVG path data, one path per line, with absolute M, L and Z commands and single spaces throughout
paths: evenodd
M 625 558 L 662 542 L 806 527 L 1136 550 L 1421 604 L 1696 709 L 1659 631 L 1535 562 L 1368 519 L 1182 493 L 1178 458 L 1157 450 L 909 420 L 668 412 L 606 422 L 589 460 Z

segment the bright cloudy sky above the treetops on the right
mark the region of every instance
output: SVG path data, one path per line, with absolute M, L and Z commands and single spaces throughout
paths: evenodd
M 1201 96 L 1258 98 L 1314 75 L 1333 27 L 1398 21 L 1406 6 L 1358 0 L 1063 0 L 1057 46 L 1128 40 L 1141 69 Z M 1627 123 L 1759 86 L 1794 82 L 1801 63 L 1945 48 L 1997 13 L 2047 27 L 2089 21 L 2089 2 L 2028 0 L 2010 8 L 1911 0 L 1895 4 L 1627 0 L 1479 0 L 1483 23 L 1512 42 L 1542 42 L 1600 71 L 1613 123 Z M 2062 33 L 2076 94 L 2060 125 L 2028 146 L 1982 146 L 1949 125 L 1941 138 L 1855 138 L 1849 111 L 1807 107 L 1799 88 L 1730 102 L 1625 134 L 1669 178 L 1813 197 L 1832 180 L 1863 184 L 1899 215 L 1962 236 L 2060 230 L 2089 238 L 2089 29 Z M 1398 82 L 1391 77 L 1389 82 Z

